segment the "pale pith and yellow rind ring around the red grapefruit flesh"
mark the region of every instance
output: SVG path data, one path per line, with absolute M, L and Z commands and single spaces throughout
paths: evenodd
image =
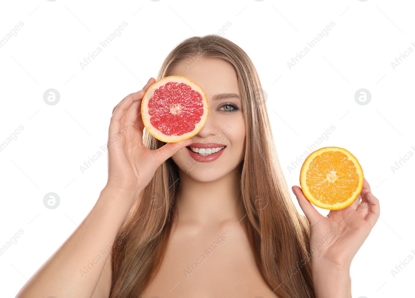
M 193 129 L 191 132 L 187 132 L 185 134 L 182 134 L 180 136 L 168 136 L 166 134 L 163 134 L 158 129 L 156 129 L 150 122 L 150 115 L 148 113 L 148 109 L 144 109 L 144 107 L 148 107 L 149 100 L 151 96 L 154 94 L 154 91 L 158 89 L 159 87 L 166 85 L 168 82 L 176 82 L 176 83 L 185 83 L 187 85 L 190 85 L 190 87 L 199 92 L 202 96 L 202 102 L 203 104 L 203 115 L 200 117 L 200 121 L 198 123 L 195 123 L 195 129 Z M 151 85 L 146 93 L 144 93 L 142 103 L 141 103 L 141 115 L 143 118 L 144 127 L 146 127 L 147 131 L 156 139 L 159 139 L 162 142 L 166 143 L 176 143 L 180 142 L 186 139 L 189 139 L 193 137 L 195 134 L 197 134 L 200 129 L 202 129 L 203 125 L 205 125 L 207 116 L 209 115 L 209 103 L 207 102 L 207 96 L 205 91 L 195 83 L 194 81 L 190 80 L 189 78 L 186 78 L 184 76 L 167 76 L 165 78 L 160 79 L 159 81 L 156 81 L 153 85 Z

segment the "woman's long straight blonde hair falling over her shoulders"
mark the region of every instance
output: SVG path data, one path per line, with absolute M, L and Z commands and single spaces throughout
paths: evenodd
M 218 35 L 190 37 L 168 54 L 156 80 L 169 76 L 176 64 L 191 65 L 200 56 L 229 63 L 239 81 L 246 124 L 240 181 L 247 216 L 242 223 L 262 277 L 281 298 L 314 298 L 308 220 L 298 213 L 288 191 L 273 145 L 266 99 L 249 56 Z M 152 150 L 165 144 L 147 131 L 143 142 Z M 172 227 L 178 178 L 178 167 L 169 158 L 120 226 L 119 233 L 124 231 L 125 237 L 113 248 L 110 298 L 139 296 L 160 269 Z M 308 261 L 303 264 L 303 260 Z

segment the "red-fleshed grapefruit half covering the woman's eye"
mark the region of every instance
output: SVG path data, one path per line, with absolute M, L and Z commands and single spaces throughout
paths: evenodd
M 209 105 L 202 87 L 184 76 L 167 76 L 144 93 L 141 115 L 146 129 L 166 143 L 197 134 L 207 120 Z

